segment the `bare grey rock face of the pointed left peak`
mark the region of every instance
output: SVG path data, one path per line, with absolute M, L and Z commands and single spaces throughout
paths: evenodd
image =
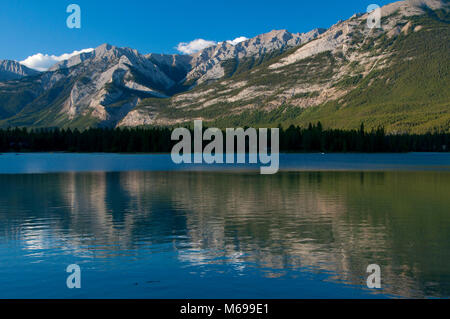
M 129 48 L 103 44 L 53 66 L 43 77 L 46 90 L 73 82 L 60 112 L 68 120 L 90 116 L 114 126 L 143 97 L 166 97 L 175 85 L 155 63 Z

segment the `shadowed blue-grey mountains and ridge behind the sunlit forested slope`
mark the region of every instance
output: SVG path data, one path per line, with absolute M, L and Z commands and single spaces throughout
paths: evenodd
M 144 98 L 166 98 L 222 77 L 222 60 L 281 53 L 320 32 L 274 31 L 190 56 L 141 55 L 104 44 L 54 65 L 33 82 L 0 82 L 0 126 L 114 127 Z

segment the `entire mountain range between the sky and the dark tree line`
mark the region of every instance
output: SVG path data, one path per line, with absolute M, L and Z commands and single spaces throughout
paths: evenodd
M 448 1 L 381 8 L 308 33 L 275 30 L 191 55 L 103 44 L 38 72 L 0 61 L 0 127 L 308 125 L 450 130 Z

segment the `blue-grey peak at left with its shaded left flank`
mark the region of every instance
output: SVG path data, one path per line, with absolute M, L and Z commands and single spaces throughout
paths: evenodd
M 29 97 L 16 114 L 3 117 L 4 125 L 83 126 L 85 119 L 86 125 L 114 126 L 140 98 L 165 97 L 175 84 L 137 51 L 108 44 L 58 63 L 35 79 L 32 92 L 24 93 L 27 83 L 0 85 L 0 100 Z

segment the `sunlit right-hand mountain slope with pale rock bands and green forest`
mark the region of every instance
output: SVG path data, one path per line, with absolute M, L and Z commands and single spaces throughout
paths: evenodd
M 355 15 L 256 68 L 170 99 L 144 100 L 120 125 L 320 120 L 336 128 L 382 125 L 393 133 L 449 131 L 448 7 L 404 1 L 383 7 L 382 16 L 382 29 L 367 28 L 367 14 Z

